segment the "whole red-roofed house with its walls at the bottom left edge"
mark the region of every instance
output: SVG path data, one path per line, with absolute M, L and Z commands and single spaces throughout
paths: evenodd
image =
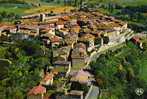
M 44 99 L 46 88 L 42 85 L 33 87 L 27 94 L 27 99 Z

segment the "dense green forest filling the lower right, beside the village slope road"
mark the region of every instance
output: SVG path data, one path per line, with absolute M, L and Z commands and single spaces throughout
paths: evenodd
M 147 43 L 140 50 L 132 42 L 123 48 L 106 54 L 91 63 L 97 85 L 102 89 L 100 99 L 146 99 L 147 98 Z M 135 89 L 143 88 L 138 96 Z

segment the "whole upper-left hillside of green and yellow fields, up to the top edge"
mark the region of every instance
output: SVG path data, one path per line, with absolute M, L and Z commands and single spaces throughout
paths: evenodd
M 71 6 L 62 6 L 56 2 L 44 2 L 45 0 L 0 0 L 0 14 L 33 14 L 40 12 L 63 12 L 65 9 L 70 10 Z M 7 8 L 7 9 L 6 9 Z

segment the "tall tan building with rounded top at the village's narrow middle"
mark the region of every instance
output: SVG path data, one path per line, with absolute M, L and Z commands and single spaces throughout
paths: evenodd
M 86 52 L 86 45 L 83 43 L 77 43 L 71 52 L 72 68 L 80 69 L 84 67 L 88 61 L 88 55 Z

